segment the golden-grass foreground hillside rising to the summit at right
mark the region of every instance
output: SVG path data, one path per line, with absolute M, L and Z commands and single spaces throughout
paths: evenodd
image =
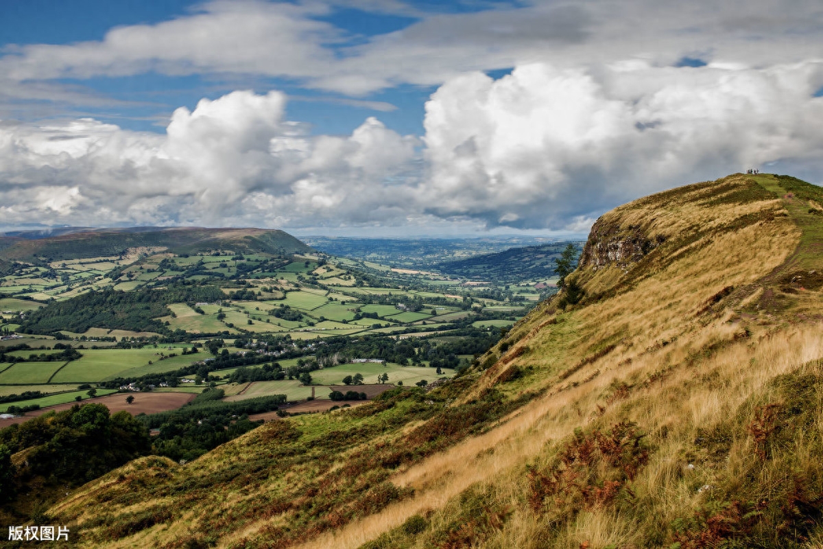
M 735 174 L 616 208 L 451 383 L 142 458 L 49 523 L 86 547 L 820 547 L 821 204 Z

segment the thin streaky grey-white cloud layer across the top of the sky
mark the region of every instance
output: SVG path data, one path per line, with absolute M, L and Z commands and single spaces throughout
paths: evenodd
M 351 7 L 407 13 L 402 30 L 364 37 L 334 26 Z M 819 58 L 823 11 L 817 0 L 738 2 L 530 2 L 489 9 L 421 12 L 402 2 L 216 0 L 155 25 L 121 26 L 103 40 L 27 44 L 0 58 L 9 97 L 44 96 L 44 81 L 122 77 L 148 72 L 283 78 L 314 89 L 367 95 L 399 84 L 439 86 L 460 73 L 528 63 L 582 67 L 642 58 L 682 58 L 748 67 Z M 67 101 L 82 101 L 67 88 Z

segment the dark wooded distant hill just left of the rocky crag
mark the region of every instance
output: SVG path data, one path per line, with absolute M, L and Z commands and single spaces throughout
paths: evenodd
M 544 281 L 555 276 L 555 258 L 569 244 L 559 242 L 510 248 L 496 254 L 477 255 L 473 258 L 436 263 L 436 271 L 475 280 L 516 282 L 524 280 Z M 574 243 L 583 249 L 582 242 Z

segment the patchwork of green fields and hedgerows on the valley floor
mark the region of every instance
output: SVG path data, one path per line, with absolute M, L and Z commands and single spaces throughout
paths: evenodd
M 109 249 L 115 241 L 107 240 Z M 472 352 L 485 351 L 537 302 L 535 285 L 553 274 L 504 286 L 308 248 L 281 254 L 232 246 L 94 255 L 72 244 L 75 257 L 51 249 L 50 261 L 42 260 L 49 254 L 18 260 L 0 277 L 0 335 L 17 333 L 0 341 L 0 397 L 45 396 L 3 406 L 69 403 L 87 399 L 90 387 L 102 395 L 122 384 L 186 395 L 211 385 L 225 388 L 228 401 L 272 394 L 298 401 L 311 396 L 296 379 L 301 372 L 323 387 L 315 388 L 319 399 L 356 373 L 367 384 L 380 374 L 389 384 L 431 382 L 438 375 L 428 365 L 442 365 L 444 375 L 467 366 Z M 455 340 L 473 351 L 449 347 Z M 210 351 L 212 341 L 219 344 Z M 65 345 L 78 356 L 49 357 Z M 347 362 L 369 358 L 388 365 Z M 240 366 L 264 361 L 284 379 L 228 382 Z

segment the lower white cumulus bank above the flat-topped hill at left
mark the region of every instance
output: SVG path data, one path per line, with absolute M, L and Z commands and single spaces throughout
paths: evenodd
M 382 222 L 415 137 L 366 119 L 348 137 L 309 137 L 285 95 L 235 91 L 174 111 L 165 136 L 94 119 L 0 124 L 7 224 L 254 226 Z M 352 200 L 352 197 L 358 197 Z

